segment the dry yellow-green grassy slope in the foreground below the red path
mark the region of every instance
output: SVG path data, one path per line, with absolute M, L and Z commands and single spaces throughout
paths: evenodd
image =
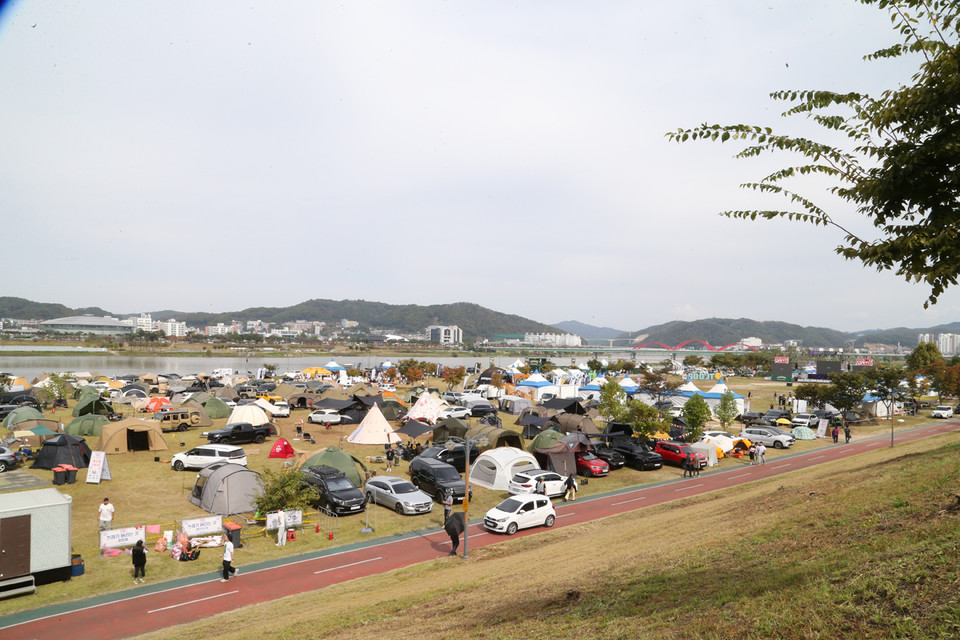
M 943 436 L 149 637 L 956 638 L 958 471 Z

